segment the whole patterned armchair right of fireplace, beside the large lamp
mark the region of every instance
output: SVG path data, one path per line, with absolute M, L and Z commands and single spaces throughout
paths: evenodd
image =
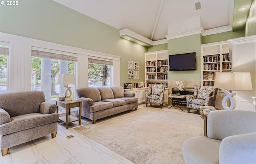
M 200 106 L 214 106 L 218 88 L 213 86 L 194 86 L 194 94 L 187 94 L 188 113 L 191 109 L 199 110 Z

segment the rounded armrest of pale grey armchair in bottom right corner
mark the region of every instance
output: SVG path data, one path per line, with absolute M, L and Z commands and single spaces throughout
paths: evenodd
M 256 132 L 229 136 L 220 143 L 220 164 L 255 164 Z

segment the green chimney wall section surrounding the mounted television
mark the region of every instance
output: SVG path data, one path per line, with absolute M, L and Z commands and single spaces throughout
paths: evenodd
M 168 40 L 168 55 L 196 52 L 195 71 L 169 71 L 168 80 L 200 80 L 201 34 Z

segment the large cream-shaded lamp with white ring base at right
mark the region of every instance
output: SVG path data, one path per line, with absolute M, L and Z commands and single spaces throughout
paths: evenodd
M 236 107 L 236 93 L 230 91 L 252 90 L 250 72 L 216 72 L 214 88 L 220 88 L 226 94 L 222 100 L 223 108 L 233 110 Z M 230 107 L 227 104 L 228 98 L 231 102 Z

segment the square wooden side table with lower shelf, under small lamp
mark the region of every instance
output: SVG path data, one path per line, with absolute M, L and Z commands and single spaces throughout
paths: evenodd
M 56 105 L 59 107 L 63 107 L 66 109 L 66 116 L 60 117 L 59 119 L 66 122 L 66 129 L 68 129 L 68 124 L 70 122 L 79 121 L 79 125 L 81 125 L 81 110 L 82 110 L 82 101 L 79 100 L 71 100 L 71 101 L 59 101 L 56 100 Z M 57 113 L 58 113 L 58 107 L 57 107 Z M 79 118 L 75 116 L 70 115 L 70 108 L 79 107 Z

